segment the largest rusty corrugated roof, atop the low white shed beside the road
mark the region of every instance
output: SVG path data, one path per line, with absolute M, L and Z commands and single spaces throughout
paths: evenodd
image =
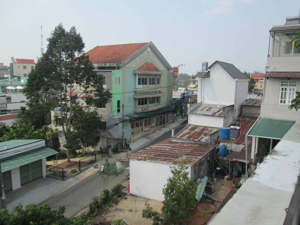
M 190 144 L 172 142 L 171 138 L 149 146 L 141 151 L 129 155 L 130 160 L 147 161 L 154 163 L 176 164 L 176 161 L 185 153 L 185 158 L 189 160 L 189 166 L 199 161 L 208 152 L 213 151 L 215 145 L 211 144 Z M 127 157 L 120 161 L 128 162 Z

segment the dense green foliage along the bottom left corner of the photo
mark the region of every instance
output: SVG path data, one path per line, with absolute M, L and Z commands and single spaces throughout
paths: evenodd
M 51 209 L 49 205 L 28 204 L 23 209 L 18 204 L 14 211 L 16 214 L 9 213 L 6 208 L 0 211 L 0 224 L 3 225 L 83 225 L 87 224 L 87 219 L 80 217 L 71 217 L 68 219 L 64 216 L 65 207 L 60 205 L 58 210 Z

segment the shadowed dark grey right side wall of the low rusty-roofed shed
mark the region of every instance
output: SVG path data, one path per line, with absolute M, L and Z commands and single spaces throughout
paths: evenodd
M 204 175 L 210 178 L 210 174 L 213 171 L 209 171 L 209 164 L 214 163 L 214 153 L 216 147 L 214 147 L 211 151 L 205 154 L 198 162 L 192 165 L 191 167 L 191 179 L 195 181 L 198 178 L 203 178 Z M 213 168 L 213 167 L 212 167 Z

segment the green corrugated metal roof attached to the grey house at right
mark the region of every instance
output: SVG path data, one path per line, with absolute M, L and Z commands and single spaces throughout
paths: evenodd
M 295 122 L 259 118 L 248 136 L 282 139 Z

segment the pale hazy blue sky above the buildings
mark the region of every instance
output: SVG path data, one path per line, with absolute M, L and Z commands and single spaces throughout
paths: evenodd
M 179 73 L 196 74 L 202 61 L 234 64 L 264 72 L 269 29 L 297 16 L 299 0 L 132 0 L 1 2 L 0 62 L 37 59 L 59 23 L 75 26 L 85 51 L 95 46 L 152 41 Z

